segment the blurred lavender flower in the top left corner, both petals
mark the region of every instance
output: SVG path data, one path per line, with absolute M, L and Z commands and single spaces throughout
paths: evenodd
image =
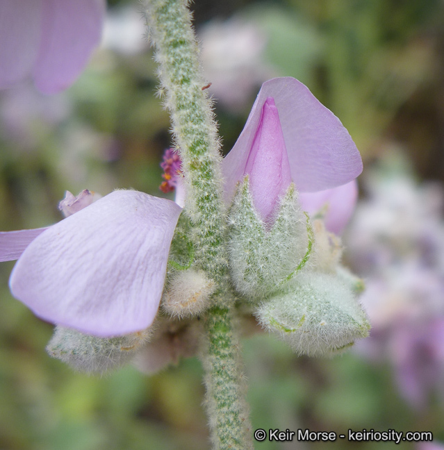
M 32 76 L 45 94 L 74 83 L 99 44 L 104 0 L 2 0 L 0 88 Z

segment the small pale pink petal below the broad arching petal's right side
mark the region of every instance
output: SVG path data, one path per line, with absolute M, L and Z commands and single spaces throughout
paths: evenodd
M 327 230 L 339 235 L 352 217 L 358 199 L 358 183 L 350 181 L 338 188 L 299 194 L 302 209 L 315 215 L 324 214 Z

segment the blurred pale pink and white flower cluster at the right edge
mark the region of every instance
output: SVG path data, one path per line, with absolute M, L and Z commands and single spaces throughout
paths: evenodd
M 356 347 L 387 358 L 403 397 L 425 407 L 432 392 L 444 399 L 444 190 L 415 183 L 394 155 L 366 181 L 369 198 L 347 235 L 372 323 L 370 338 Z

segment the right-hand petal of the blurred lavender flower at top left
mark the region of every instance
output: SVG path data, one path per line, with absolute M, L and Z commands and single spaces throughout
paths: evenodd
M 43 10 L 42 40 L 33 76 L 40 91 L 53 94 L 75 81 L 99 44 L 105 3 L 43 0 Z

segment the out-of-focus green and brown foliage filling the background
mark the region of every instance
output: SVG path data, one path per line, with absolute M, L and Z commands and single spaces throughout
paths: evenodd
M 156 65 L 142 40 L 138 2 L 108 6 L 104 44 L 72 88 L 53 97 L 31 84 L 0 93 L 3 231 L 58 221 L 65 190 L 165 195 L 158 190 L 159 163 L 171 144 L 170 124 L 155 96 Z M 224 152 L 261 83 L 295 76 L 340 117 L 365 167 L 395 143 L 417 180 L 444 181 L 443 6 L 438 0 L 195 1 Z M 0 449 L 209 447 L 197 358 L 154 376 L 131 366 L 103 378 L 76 374 L 45 353 L 52 326 L 10 296 L 12 267 L 0 266 Z M 425 404 L 413 405 L 390 360 L 353 352 L 334 360 L 297 358 L 267 335 L 245 340 L 244 353 L 254 428 L 392 428 L 432 431 L 444 441 L 439 388 Z M 256 448 L 323 445 L 262 442 Z M 340 440 L 331 447 L 355 445 Z

